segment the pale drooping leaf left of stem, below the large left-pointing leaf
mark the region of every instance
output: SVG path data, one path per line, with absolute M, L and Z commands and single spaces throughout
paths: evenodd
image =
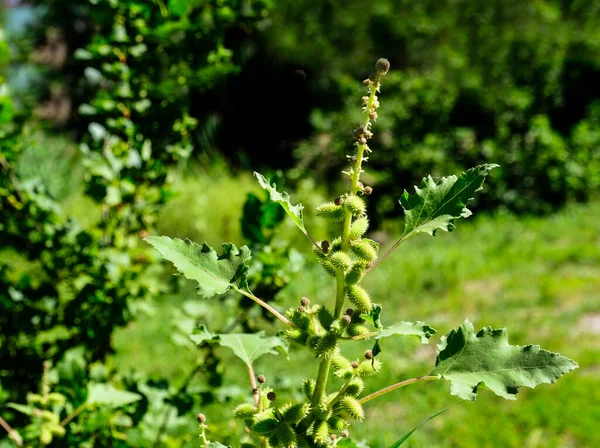
M 287 343 L 283 339 L 277 336 L 265 337 L 262 331 L 252 334 L 213 334 L 201 326 L 197 333 L 190 336 L 190 339 L 196 344 L 213 342 L 227 347 L 247 366 L 251 366 L 254 361 L 264 355 L 287 355 L 288 349 Z

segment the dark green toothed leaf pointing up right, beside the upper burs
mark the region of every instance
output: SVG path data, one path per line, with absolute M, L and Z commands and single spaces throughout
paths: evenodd
M 455 219 L 471 216 L 467 202 L 482 189 L 485 177 L 497 167 L 496 164 L 480 165 L 458 177 L 442 177 L 437 182 L 428 176 L 415 187 L 414 195 L 405 190 L 400 197 L 404 209 L 404 234 L 424 232 L 435 236 L 438 229 L 454 230 Z

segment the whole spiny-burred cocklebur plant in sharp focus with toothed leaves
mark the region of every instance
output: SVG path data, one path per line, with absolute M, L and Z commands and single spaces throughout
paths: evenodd
M 379 360 L 382 339 L 416 336 L 426 344 L 436 333 L 423 322 L 398 322 L 384 327 L 381 306 L 373 303 L 363 279 L 408 238 L 420 233 L 435 236 L 440 230 L 454 230 L 455 220 L 471 215 L 466 207 L 468 201 L 482 189 L 488 173 L 497 167 L 485 164 L 437 181 L 428 176 L 415 187 L 414 194 L 405 191 L 399 200 L 405 218 L 403 236 L 379 256 L 379 244 L 365 238 L 369 228 L 365 198 L 372 188 L 363 185 L 360 178 L 363 164 L 372 152 L 368 141 L 373 135 L 372 122 L 377 119 L 378 93 L 388 70 L 389 62 L 380 59 L 376 72 L 364 81 L 368 92 L 362 98 L 364 120 L 354 130 L 355 152 L 348 155 L 350 166 L 343 171 L 350 180 L 349 191 L 316 210 L 317 216 L 339 224 L 340 235 L 314 240 L 304 225 L 303 206 L 292 205 L 287 193 L 277 191 L 268 179 L 255 173 L 271 200 L 279 203 L 307 236 L 318 262 L 333 277 L 336 295 L 332 304 L 313 303 L 303 297 L 298 308 L 282 314 L 249 290 L 247 262 L 251 256 L 247 247 L 238 249 L 233 244 L 224 244 L 223 253 L 219 255 L 206 244 L 200 246 L 189 240 L 164 236 L 147 238 L 184 276 L 198 282 L 197 291 L 202 298 L 234 290 L 263 306 L 286 325 L 281 337 L 267 337 L 262 333 L 215 335 L 204 327 L 191 336 L 199 344 L 212 342 L 226 346 L 245 362 L 254 400 L 236 407 L 234 416 L 245 423 L 262 447 L 352 446 L 344 439 L 352 423 L 364 420 L 363 405 L 409 384 L 446 379 L 451 382 L 450 393 L 461 401 L 475 400 L 478 388 L 483 385 L 501 397 L 514 400 L 519 387 L 553 383 L 577 367 L 574 361 L 536 345 L 510 345 L 505 329 L 484 327 L 476 332 L 473 324 L 466 320 L 442 336 L 435 365 L 428 375 L 363 395 L 369 377 L 382 368 Z M 341 341 L 367 338 L 373 339 L 374 345 L 364 353 L 363 359 L 344 356 Z M 266 378 L 257 378 L 254 374 L 253 362 L 262 355 L 284 351 L 284 341 L 310 350 L 318 360 L 315 378 L 308 378 L 302 384 L 305 399 L 300 402 L 277 400 L 275 392 L 266 387 Z M 439 413 L 430 419 L 436 415 Z M 204 429 L 202 426 L 202 446 L 219 446 L 206 441 Z M 393 447 L 404 443 L 412 432 L 414 429 Z

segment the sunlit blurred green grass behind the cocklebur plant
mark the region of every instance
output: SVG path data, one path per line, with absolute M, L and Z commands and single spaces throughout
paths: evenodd
M 599 222 L 600 203 L 570 206 L 544 218 L 499 214 L 462 221 L 451 234 L 407 241 L 367 277 L 364 285 L 383 305 L 384 324 L 423 320 L 443 334 L 469 318 L 476 327 L 508 327 L 511 343 L 540 344 L 581 366 L 556 384 L 521 389 L 517 401 L 481 390 L 476 402 L 462 403 L 428 423 L 407 446 L 600 446 Z M 168 228 L 163 230 L 168 233 Z M 309 266 L 280 294 L 279 306 L 296 305 L 303 295 L 333 302 L 333 283 L 319 266 Z M 145 322 L 142 317 L 122 330 L 115 339 L 117 365 L 179 380 L 194 356 L 170 342 L 172 328 L 164 322 L 184 300 L 196 300 L 193 291 L 158 301 L 159 320 L 150 316 Z M 218 316 L 217 308 L 210 312 Z M 385 340 L 383 373 L 368 383 L 366 393 L 427 374 L 437 340 L 428 346 L 405 338 Z M 369 342 L 354 345 L 349 349 L 357 357 L 370 347 Z M 265 373 L 270 384 L 282 389 L 316 374 L 316 360 L 301 352 L 291 358 L 265 358 L 257 373 Z M 235 362 L 228 359 L 226 381 L 247 388 L 243 367 L 236 364 L 237 370 L 231 364 Z M 374 448 L 387 447 L 454 401 L 446 382 L 411 385 L 366 405 L 366 423 L 355 425 L 352 437 L 368 440 Z M 217 407 L 205 411 L 213 422 L 230 420 Z

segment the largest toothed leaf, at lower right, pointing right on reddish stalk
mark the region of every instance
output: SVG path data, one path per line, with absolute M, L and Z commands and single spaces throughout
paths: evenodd
M 505 328 L 485 327 L 477 334 L 468 320 L 438 344 L 431 375 L 449 380 L 451 393 L 465 400 L 477 398 L 485 384 L 496 395 L 515 400 L 519 387 L 554 383 L 577 363 L 539 345 L 509 345 Z

